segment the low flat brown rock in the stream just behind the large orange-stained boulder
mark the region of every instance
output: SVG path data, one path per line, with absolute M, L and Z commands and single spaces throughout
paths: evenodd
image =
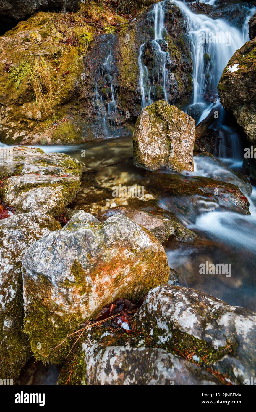
M 164 212 L 164 210 L 163 210 Z M 166 211 L 165 211 L 166 212 Z M 129 206 L 119 206 L 101 213 L 104 218 L 121 213 L 127 218 L 133 220 L 148 229 L 155 235 L 160 243 L 164 243 L 168 239 L 173 239 L 177 242 L 190 243 L 193 242 L 196 234 L 189 229 L 186 229 L 181 223 L 175 222 L 157 214 L 157 211 L 143 211 Z M 166 212 L 168 214 L 168 212 Z

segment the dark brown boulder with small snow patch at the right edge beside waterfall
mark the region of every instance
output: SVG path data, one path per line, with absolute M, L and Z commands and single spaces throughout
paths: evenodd
M 245 43 L 228 62 L 218 86 L 220 101 L 244 130 L 249 142 L 256 142 L 255 41 Z

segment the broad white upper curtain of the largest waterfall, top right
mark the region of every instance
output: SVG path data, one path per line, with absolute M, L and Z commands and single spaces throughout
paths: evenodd
M 246 40 L 242 30 L 223 19 L 211 19 L 206 14 L 195 14 L 183 2 L 174 0 L 187 23 L 193 61 L 193 103 L 204 101 L 208 94 L 217 94 L 217 86 L 226 64 Z M 247 29 L 248 36 L 248 29 Z M 210 61 L 205 59 L 210 56 Z

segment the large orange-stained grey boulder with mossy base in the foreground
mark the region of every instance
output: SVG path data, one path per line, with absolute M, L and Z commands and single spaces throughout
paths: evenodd
M 56 363 L 70 342 L 55 346 L 104 304 L 139 299 L 169 275 L 164 248 L 150 232 L 121 214 L 102 223 L 84 211 L 28 248 L 23 268 L 24 330 L 35 358 Z

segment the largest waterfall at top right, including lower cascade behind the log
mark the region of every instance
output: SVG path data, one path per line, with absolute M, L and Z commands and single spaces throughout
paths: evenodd
M 211 19 L 206 14 L 195 14 L 187 5 L 179 0 L 173 0 L 182 10 L 186 25 L 187 35 L 190 40 L 191 58 L 193 61 L 193 97 L 189 106 L 201 107 L 200 123 L 218 103 L 217 87 L 219 79 L 226 64 L 236 50 L 249 40 L 248 21 L 256 8 L 247 9 L 244 24 L 239 30 L 231 23 L 223 19 Z M 205 1 L 214 5 L 213 1 Z M 194 106 L 194 107 L 196 107 Z M 240 158 L 241 145 L 238 133 L 225 124 L 225 111 L 221 109 L 221 115 L 214 128 L 221 129 L 221 142 L 219 156 L 228 155 Z M 230 150 L 226 151 L 226 136 L 228 136 Z

